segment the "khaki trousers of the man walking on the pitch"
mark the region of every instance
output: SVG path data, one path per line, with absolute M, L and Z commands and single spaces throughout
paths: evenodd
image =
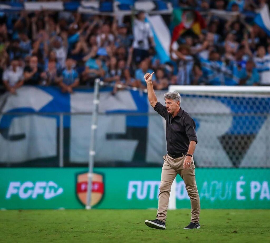
M 191 222 L 198 223 L 200 219 L 200 197 L 198 194 L 197 184 L 195 181 L 195 166 L 192 157 L 192 165 L 189 169 L 184 169 L 183 163 L 186 156 L 180 158 L 172 158 L 164 155 L 164 164 L 161 172 L 161 183 L 158 195 L 157 219 L 165 222 L 167 217 L 167 208 L 169 203 L 171 184 L 177 173 L 185 182 L 185 188 L 191 203 Z

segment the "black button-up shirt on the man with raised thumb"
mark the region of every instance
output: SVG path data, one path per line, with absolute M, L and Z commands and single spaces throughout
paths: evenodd
M 166 119 L 166 140 L 169 153 L 187 152 L 190 141 L 198 142 L 195 132 L 196 124 L 182 108 L 174 118 L 160 102 L 157 102 L 154 110 Z

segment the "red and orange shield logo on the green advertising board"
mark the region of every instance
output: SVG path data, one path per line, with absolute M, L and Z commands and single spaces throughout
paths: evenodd
M 78 174 L 76 183 L 76 193 L 80 202 L 84 205 L 86 205 L 87 202 L 87 186 L 88 186 L 87 173 Z M 104 194 L 103 175 L 93 173 L 91 206 L 97 205 L 102 199 L 103 194 Z

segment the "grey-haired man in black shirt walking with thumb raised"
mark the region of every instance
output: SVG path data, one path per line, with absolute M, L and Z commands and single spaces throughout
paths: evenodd
M 164 164 L 161 172 L 160 193 L 158 195 L 157 219 L 146 220 L 151 228 L 166 229 L 165 221 L 171 191 L 171 184 L 179 174 L 185 182 L 185 188 L 191 202 L 191 222 L 184 229 L 200 228 L 200 197 L 195 181 L 193 153 L 197 144 L 195 122 L 190 115 L 180 108 L 181 96 L 177 92 L 164 95 L 166 107 L 157 101 L 153 89 L 152 76 L 146 73 L 148 99 L 151 106 L 166 119 L 167 155 L 163 156 Z

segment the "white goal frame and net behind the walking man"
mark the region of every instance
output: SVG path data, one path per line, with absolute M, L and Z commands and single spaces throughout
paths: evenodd
M 180 86 L 181 107 L 196 123 L 197 167 L 270 167 L 270 87 Z M 176 208 L 176 180 L 169 209 Z

